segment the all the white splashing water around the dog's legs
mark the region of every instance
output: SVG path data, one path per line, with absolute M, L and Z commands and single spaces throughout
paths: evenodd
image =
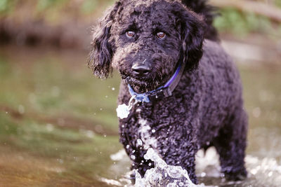
M 141 142 L 138 140 L 139 143 Z M 126 146 L 129 148 L 129 145 Z M 115 173 L 124 171 L 124 165 L 129 165 L 129 158 L 126 156 L 124 149 L 110 158 L 116 161 L 112 169 Z M 188 174 L 181 167 L 167 165 L 155 151 L 151 148 L 145 155 L 145 159 L 150 159 L 155 162 L 155 168 L 149 169 L 145 177 L 142 179 L 137 170 L 133 171 L 136 174 L 136 186 L 150 187 L 150 186 L 196 186 L 188 180 Z M 244 181 L 227 181 L 221 174 L 221 167 L 219 165 L 218 154 L 216 148 L 211 147 L 206 152 L 200 150 L 196 155 L 196 171 L 199 181 L 206 183 L 205 187 L 218 187 L 218 186 L 273 186 L 279 187 L 281 183 L 281 162 L 278 158 L 259 158 L 254 155 L 247 155 L 245 164 L 249 176 Z M 176 168 L 173 172 L 173 169 Z M 126 168 L 129 170 L 129 167 Z M 178 170 L 177 170 L 178 169 Z M 171 172 L 167 172 L 171 171 Z M 185 172 L 184 172 L 185 171 Z M 182 174 L 183 173 L 183 174 Z M 121 179 L 116 179 L 122 186 L 133 187 L 130 180 L 131 172 L 128 172 Z M 175 177 L 176 176 L 176 177 Z M 177 178 L 180 176 L 179 178 Z M 113 178 L 112 178 L 113 179 Z M 186 184 L 185 181 L 189 181 Z M 197 185 L 204 186 L 204 184 Z

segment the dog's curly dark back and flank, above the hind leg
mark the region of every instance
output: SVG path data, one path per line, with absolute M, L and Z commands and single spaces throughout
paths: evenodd
M 203 48 L 200 65 L 194 72 L 196 75 L 192 76 L 199 77 L 195 82 L 201 92 L 198 133 L 201 147 L 209 146 L 214 137 L 220 134 L 221 128 L 228 124 L 237 126 L 232 121 L 234 116 L 243 120 L 240 125 L 247 125 L 242 84 L 233 59 L 214 41 L 205 40 Z

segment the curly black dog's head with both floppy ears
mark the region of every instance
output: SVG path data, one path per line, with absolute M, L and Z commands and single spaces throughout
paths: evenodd
M 181 1 L 117 1 L 93 32 L 89 67 L 100 78 L 114 67 L 137 92 L 154 90 L 180 60 L 197 67 L 203 35 L 202 19 Z

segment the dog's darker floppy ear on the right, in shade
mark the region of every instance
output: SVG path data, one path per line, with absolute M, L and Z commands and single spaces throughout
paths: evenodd
M 183 59 L 187 69 L 195 69 L 200 61 L 204 40 L 204 22 L 199 15 L 190 11 L 184 11 L 181 15 L 181 40 L 183 41 Z

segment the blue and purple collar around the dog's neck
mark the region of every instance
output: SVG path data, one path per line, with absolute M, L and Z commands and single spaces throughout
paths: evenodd
M 169 79 L 164 85 L 160 86 L 156 90 L 152 90 L 150 92 L 144 92 L 144 93 L 137 93 L 131 88 L 131 85 L 128 84 L 129 92 L 131 94 L 131 97 L 136 96 L 135 99 L 137 102 L 151 102 L 156 99 L 162 99 L 164 97 L 169 97 L 172 95 L 172 92 L 176 88 L 176 85 L 178 85 L 178 82 L 181 79 L 181 76 L 183 75 L 183 70 L 185 68 L 185 63 L 181 62 L 178 64 L 178 67 Z

